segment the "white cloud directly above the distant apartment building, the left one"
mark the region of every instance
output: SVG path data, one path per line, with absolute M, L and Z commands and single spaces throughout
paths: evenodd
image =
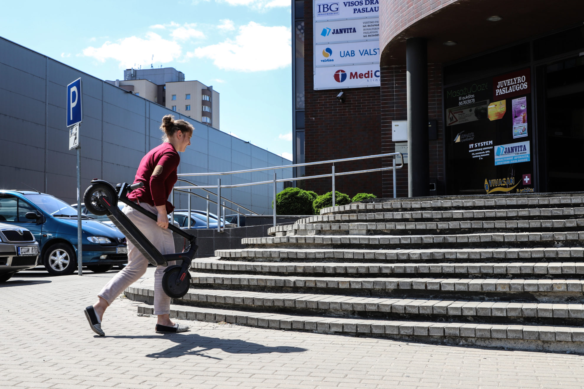
M 102 47 L 88 47 L 83 50 L 87 57 L 93 57 L 100 62 L 106 59 L 116 59 L 120 68 L 130 68 L 135 65 L 150 65 L 152 55 L 157 62 L 167 63 L 180 57 L 181 47 L 175 41 L 162 38 L 156 33 L 148 32 L 146 38 L 131 36 L 122 38 L 115 43 L 106 41 Z

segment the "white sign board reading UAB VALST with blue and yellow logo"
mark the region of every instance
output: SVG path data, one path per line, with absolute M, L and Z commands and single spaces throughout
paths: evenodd
M 379 41 L 319 44 L 314 49 L 314 61 L 319 66 L 339 66 L 379 63 Z

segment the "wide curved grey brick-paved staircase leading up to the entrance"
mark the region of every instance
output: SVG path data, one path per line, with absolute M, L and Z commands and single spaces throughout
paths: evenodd
M 406 200 L 326 208 L 195 260 L 172 316 L 584 352 L 582 194 Z M 152 303 L 152 280 L 126 295 Z

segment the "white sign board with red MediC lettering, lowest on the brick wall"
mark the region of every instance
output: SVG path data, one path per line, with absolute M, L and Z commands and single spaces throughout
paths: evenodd
M 380 86 L 379 64 L 326 66 L 314 73 L 315 90 L 368 86 Z

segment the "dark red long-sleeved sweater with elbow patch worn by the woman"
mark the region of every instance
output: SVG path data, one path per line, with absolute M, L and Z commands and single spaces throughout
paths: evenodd
M 166 213 L 171 213 L 174 206 L 168 201 L 172 187 L 176 183 L 176 168 L 179 166 L 180 156 L 171 143 L 150 150 L 140 161 L 134 183 L 138 181 L 144 186 L 128 194 L 132 201 L 145 202 L 153 206 L 166 205 Z M 152 172 L 158 165 L 162 166 L 162 172 L 152 176 Z

